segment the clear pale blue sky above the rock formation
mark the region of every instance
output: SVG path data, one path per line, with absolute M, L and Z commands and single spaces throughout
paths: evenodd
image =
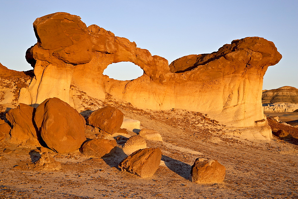
M 33 21 L 67 12 L 135 41 L 169 63 L 190 54 L 211 53 L 234 39 L 273 41 L 282 60 L 268 68 L 263 89 L 298 88 L 298 0 L 205 1 L 30 1 L 0 0 L 0 62 L 30 70 L 26 50 L 36 43 Z M 119 69 L 114 71 L 119 73 Z M 131 72 L 134 75 L 134 72 Z M 120 72 L 123 76 L 124 72 Z M 129 78 L 128 78 L 129 79 Z

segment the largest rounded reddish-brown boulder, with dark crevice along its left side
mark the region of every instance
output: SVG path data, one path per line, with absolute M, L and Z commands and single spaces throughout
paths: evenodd
M 57 153 L 79 149 L 86 140 L 85 119 L 59 98 L 49 98 L 37 108 L 34 117 L 46 145 Z

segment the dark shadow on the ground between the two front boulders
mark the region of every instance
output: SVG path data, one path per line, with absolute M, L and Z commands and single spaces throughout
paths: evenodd
M 173 172 L 180 175 L 182 178 L 185 178 L 188 180 L 191 166 L 189 164 L 186 164 L 184 162 L 181 162 L 179 160 L 175 160 L 173 158 L 170 158 L 168 156 L 162 155 L 162 161 L 164 161 L 164 164 Z

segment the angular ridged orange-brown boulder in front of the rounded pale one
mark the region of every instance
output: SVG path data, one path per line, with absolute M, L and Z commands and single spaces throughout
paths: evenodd
M 140 176 L 150 178 L 159 167 L 162 152 L 159 148 L 139 149 L 126 157 L 119 168 Z

